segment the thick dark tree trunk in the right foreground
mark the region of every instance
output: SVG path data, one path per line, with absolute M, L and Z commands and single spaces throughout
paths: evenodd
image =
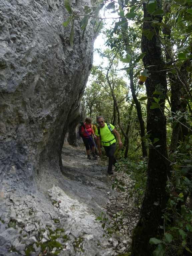
M 161 9 L 160 3 L 161 1 L 157 0 L 157 9 Z M 143 8 L 144 17 L 150 17 L 145 3 Z M 161 22 L 160 17 L 159 22 Z M 143 31 L 146 29 L 154 31 L 149 19 L 143 25 Z M 141 207 L 140 220 L 133 232 L 132 256 L 152 255 L 154 247 L 149 244 L 149 239 L 158 237 L 158 232 L 161 232 L 158 227 L 163 225 L 162 210 L 165 208 L 168 199 L 165 187 L 169 165 L 166 160 L 166 118 L 163 113 L 167 82 L 166 72 L 162 71 L 164 70 L 164 61 L 161 56 L 158 32 L 158 29 L 155 28 L 156 35 L 154 34 L 151 40 L 142 35 L 141 41 L 142 52 L 146 52 L 143 58 L 144 67 L 151 73 L 145 82 L 147 96 L 150 97 L 147 102 L 147 133 L 150 134 L 152 142 L 154 138 L 159 138 L 159 141 L 149 147 L 147 186 Z M 162 94 L 153 95 L 154 91 L 160 91 Z M 159 103 L 162 103 L 162 110 L 150 108 L 152 102 L 154 102 L 153 97 L 160 97 Z M 155 148 L 156 145 L 160 145 L 160 147 Z

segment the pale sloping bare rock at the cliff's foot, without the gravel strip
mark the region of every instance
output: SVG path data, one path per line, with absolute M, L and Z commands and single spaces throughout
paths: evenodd
M 62 176 L 44 166 L 38 195 L 12 193 L 4 201 L 0 255 L 117 255 L 117 240 L 95 220 L 106 213 L 110 196 L 118 195 L 107 167 L 100 159 L 88 160 L 82 147 L 62 151 Z

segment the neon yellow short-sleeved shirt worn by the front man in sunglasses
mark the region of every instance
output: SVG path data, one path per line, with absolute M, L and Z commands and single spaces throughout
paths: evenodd
M 115 126 L 113 126 L 112 124 L 110 124 L 110 126 L 112 130 L 115 128 Z M 96 129 L 95 135 L 99 136 L 98 129 Z M 105 123 L 105 127 L 103 128 L 100 127 L 100 135 L 101 135 L 101 144 L 103 146 L 110 146 L 111 144 L 116 142 L 114 135 L 111 133 L 106 123 Z

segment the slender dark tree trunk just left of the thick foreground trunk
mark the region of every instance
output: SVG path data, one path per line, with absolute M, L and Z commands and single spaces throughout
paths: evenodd
M 129 72 L 129 78 L 130 78 L 131 93 L 132 93 L 132 97 L 133 97 L 133 100 L 136 105 L 137 116 L 139 119 L 139 124 L 140 124 L 140 129 L 141 129 L 140 135 L 141 135 L 142 155 L 143 155 L 143 157 L 146 157 L 147 156 L 147 147 L 146 147 L 145 142 L 142 140 L 142 137 L 145 136 L 145 125 L 144 125 L 144 121 L 143 121 L 143 117 L 142 117 L 141 104 L 138 101 L 137 96 L 135 94 L 135 88 L 134 88 L 134 84 L 133 84 L 133 69 L 131 69 Z

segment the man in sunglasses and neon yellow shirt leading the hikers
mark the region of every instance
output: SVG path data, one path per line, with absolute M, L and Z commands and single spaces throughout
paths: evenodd
M 109 158 L 109 164 L 107 172 L 108 174 L 113 174 L 112 166 L 117 165 L 118 162 L 114 157 L 115 149 L 116 149 L 116 138 L 114 134 L 117 136 L 119 147 L 123 146 L 121 142 L 119 133 L 115 130 L 115 127 L 112 124 L 105 123 L 102 116 L 97 117 L 97 123 L 99 127 L 95 131 L 95 135 L 97 136 L 97 146 L 99 155 L 101 156 L 101 145 L 104 147 L 107 157 Z M 99 129 L 99 131 L 98 131 Z M 113 134 L 114 133 L 114 134 Z

